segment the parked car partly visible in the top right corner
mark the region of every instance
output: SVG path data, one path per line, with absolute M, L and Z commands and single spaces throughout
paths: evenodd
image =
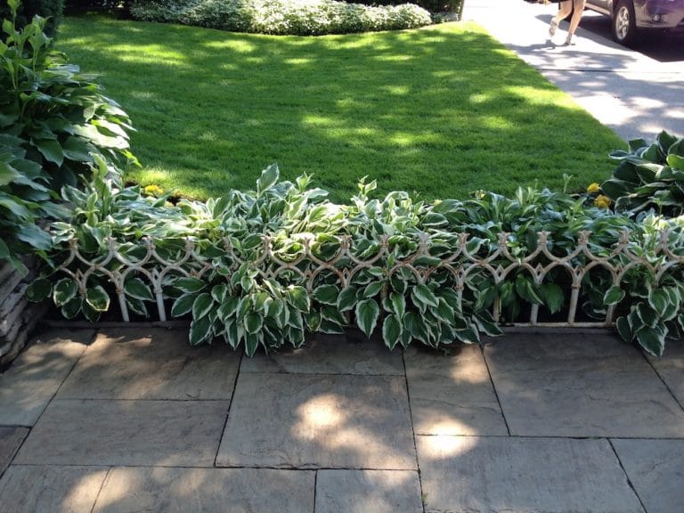
M 684 33 L 684 0 L 587 0 L 587 9 L 610 16 L 613 39 L 626 46 L 647 30 Z

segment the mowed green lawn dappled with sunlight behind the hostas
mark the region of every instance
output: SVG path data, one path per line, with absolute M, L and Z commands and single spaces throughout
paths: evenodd
M 471 24 L 331 37 L 67 18 L 58 48 L 102 74 L 131 115 L 143 168 L 128 178 L 186 196 L 252 189 L 277 163 L 345 200 L 460 198 L 600 181 L 624 143 Z

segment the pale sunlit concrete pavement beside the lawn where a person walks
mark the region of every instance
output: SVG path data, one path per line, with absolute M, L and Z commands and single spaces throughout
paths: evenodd
M 482 25 L 624 140 L 650 141 L 661 130 L 684 136 L 684 52 L 681 59 L 659 62 L 617 45 L 608 28 L 605 37 L 583 28 L 608 24 L 590 11 L 575 33 L 576 45 L 562 45 L 566 21 L 549 42 L 549 23 L 557 11 L 558 4 L 467 0 L 463 20 Z

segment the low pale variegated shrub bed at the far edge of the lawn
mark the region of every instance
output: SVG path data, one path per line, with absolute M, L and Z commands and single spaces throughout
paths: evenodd
M 232 32 L 318 36 L 429 25 L 415 4 L 368 6 L 336 0 L 151 0 L 131 7 L 136 20 Z

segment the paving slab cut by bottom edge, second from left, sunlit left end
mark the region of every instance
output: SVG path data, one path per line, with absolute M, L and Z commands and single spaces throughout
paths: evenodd
M 314 482 L 311 470 L 113 468 L 94 513 L 313 513 Z

